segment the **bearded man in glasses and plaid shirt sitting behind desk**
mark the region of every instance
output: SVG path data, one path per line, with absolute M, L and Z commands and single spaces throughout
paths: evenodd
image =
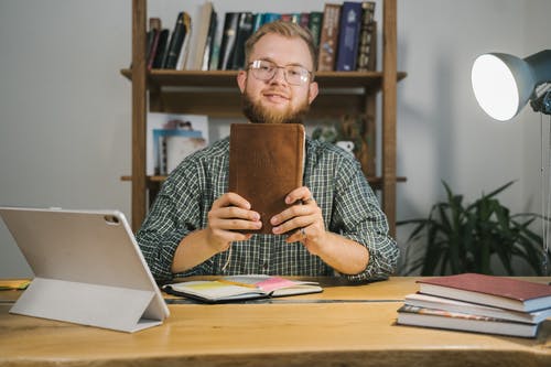
M 302 122 L 317 96 L 316 51 L 301 26 L 277 21 L 246 44 L 237 83 L 252 123 Z M 258 229 L 250 203 L 228 193 L 229 139 L 187 156 L 168 177 L 137 239 L 158 280 L 174 274 L 333 276 L 381 279 L 398 248 L 358 162 L 334 145 L 306 139 L 304 186 L 292 205 Z M 283 235 L 284 234 L 284 235 Z

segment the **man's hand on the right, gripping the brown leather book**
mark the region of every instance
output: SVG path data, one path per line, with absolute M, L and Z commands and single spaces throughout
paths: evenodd
M 312 193 L 305 186 L 293 190 L 287 197 L 285 203 L 302 203 L 293 205 L 280 214 L 273 216 L 270 223 L 273 233 L 291 233 L 288 242 L 301 241 L 313 255 L 318 255 L 320 247 L 326 242 L 327 233 L 323 223 L 322 209 L 317 206 Z

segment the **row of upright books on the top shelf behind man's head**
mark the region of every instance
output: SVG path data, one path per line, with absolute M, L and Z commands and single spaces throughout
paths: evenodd
M 310 30 L 318 50 L 318 71 L 376 69 L 374 1 L 325 3 L 322 11 L 301 13 L 227 12 L 220 19 L 207 1 L 199 17 L 192 20 L 182 11 L 172 29 L 164 28 L 160 18 L 149 19 L 149 69 L 242 69 L 247 39 L 262 24 L 280 19 Z

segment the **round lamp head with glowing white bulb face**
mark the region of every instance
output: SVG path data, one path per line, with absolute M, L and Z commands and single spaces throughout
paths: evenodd
M 536 86 L 551 80 L 551 50 L 525 60 L 503 53 L 480 55 L 471 80 L 482 109 L 496 120 L 510 120 L 532 98 Z

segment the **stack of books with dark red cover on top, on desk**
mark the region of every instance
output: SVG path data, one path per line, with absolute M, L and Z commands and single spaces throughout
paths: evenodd
M 398 324 L 534 337 L 551 316 L 551 285 L 477 273 L 419 280 Z

